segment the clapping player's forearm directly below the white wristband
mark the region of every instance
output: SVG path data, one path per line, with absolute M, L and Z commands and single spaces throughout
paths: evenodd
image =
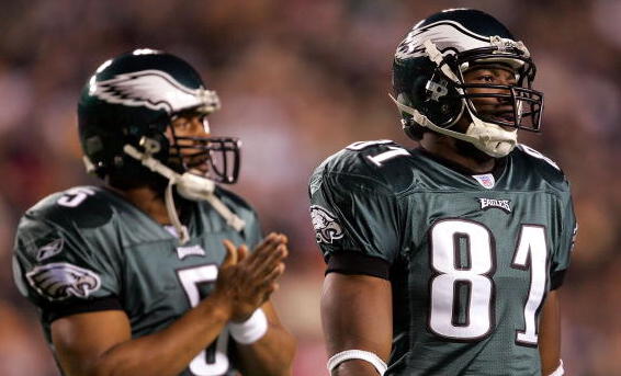
M 252 344 L 237 344 L 244 375 L 289 376 L 292 374 L 295 339 L 282 326 L 270 323 L 263 338 Z

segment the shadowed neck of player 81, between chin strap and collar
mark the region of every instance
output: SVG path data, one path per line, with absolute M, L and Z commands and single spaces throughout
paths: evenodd
M 472 144 L 453 137 L 426 133 L 420 146 L 429 153 L 455 163 L 472 173 L 494 170 L 496 159 L 476 149 Z

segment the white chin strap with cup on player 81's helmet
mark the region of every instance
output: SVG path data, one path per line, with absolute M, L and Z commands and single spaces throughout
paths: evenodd
M 494 158 L 507 156 L 518 144 L 518 129 L 505 130 L 496 124 L 483 122 L 470 112 L 470 110 L 468 113 L 472 117 L 472 123 L 466 133 L 463 134 L 461 132 L 439 127 L 416 109 L 400 103 L 391 94 L 388 94 L 388 96 L 395 102 L 399 111 L 410 114 L 414 121 L 420 126 L 442 135 L 471 143 L 477 149 Z

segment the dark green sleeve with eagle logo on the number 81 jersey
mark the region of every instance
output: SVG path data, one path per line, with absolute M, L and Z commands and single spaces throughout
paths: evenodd
M 399 209 L 382 182 L 347 173 L 315 174 L 309 193 L 316 241 L 328 270 L 351 267 L 353 273 L 358 267 L 361 274 L 373 274 L 366 272 L 373 264 L 386 270 L 393 264 L 399 252 Z

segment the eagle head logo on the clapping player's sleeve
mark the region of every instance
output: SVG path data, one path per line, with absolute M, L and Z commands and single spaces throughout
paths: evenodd
M 26 273 L 26 278 L 48 300 L 65 300 L 71 296 L 86 298 L 101 286 L 94 272 L 66 262 L 36 266 Z

